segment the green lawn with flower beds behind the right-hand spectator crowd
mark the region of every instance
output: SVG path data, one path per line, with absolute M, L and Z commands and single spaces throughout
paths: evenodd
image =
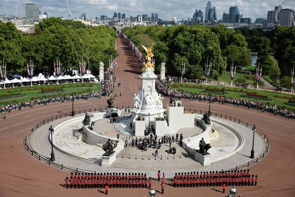
M 200 85 L 200 84 L 182 84 L 181 85 L 180 83 L 170 84 L 170 87 L 172 89 L 176 89 L 178 91 L 191 92 L 191 93 L 194 93 L 194 94 L 205 94 L 205 93 L 202 93 L 202 91 L 205 90 L 207 87 L 222 89 L 222 87 L 218 87 L 218 86 L 206 86 L 206 85 Z M 233 98 L 246 99 L 246 100 L 256 100 L 256 101 L 261 101 L 261 102 L 265 102 L 265 103 L 269 103 L 269 104 L 275 104 L 277 106 L 286 107 L 286 108 L 289 108 L 289 109 L 295 109 L 295 106 L 285 104 L 285 102 L 288 102 L 288 99 L 275 98 L 275 96 L 292 97 L 292 95 L 276 93 L 276 92 L 249 90 L 249 89 L 245 89 L 245 88 L 229 88 L 229 87 L 225 87 L 224 89 L 225 89 L 224 91 L 228 94 L 228 95 L 225 95 L 225 97 L 233 97 Z M 265 100 L 258 100 L 258 99 L 243 98 L 243 97 L 241 97 L 241 95 L 245 95 L 246 93 L 233 92 L 234 90 L 235 91 L 248 91 L 249 93 L 257 93 L 257 94 L 260 94 L 260 95 L 265 95 L 265 96 L 267 96 L 267 97 L 269 97 L 269 98 L 271 98 L 273 100 L 272 101 L 265 101 Z M 214 94 L 212 94 L 212 95 L 214 95 Z M 293 96 L 293 98 L 295 98 L 295 97 Z

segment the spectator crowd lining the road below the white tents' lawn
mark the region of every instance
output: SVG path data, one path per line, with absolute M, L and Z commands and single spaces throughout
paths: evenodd
M 101 83 L 101 88 L 99 92 L 93 92 L 93 93 L 87 93 L 87 94 L 74 94 L 74 95 L 64 95 L 60 96 L 57 95 L 55 97 L 47 98 L 47 99 L 31 99 L 28 102 L 16 102 L 14 101 L 12 104 L 8 105 L 2 105 L 0 107 L 0 112 L 5 113 L 5 112 L 10 112 L 12 110 L 19 109 L 21 110 L 24 107 L 33 107 L 35 105 L 40 105 L 40 104 L 45 104 L 47 105 L 48 103 L 51 102 L 64 102 L 64 101 L 71 101 L 73 98 L 75 100 L 80 100 L 80 99 L 95 99 L 95 98 L 101 98 L 104 96 L 109 96 L 112 91 L 114 90 L 114 82 L 115 82 L 115 75 L 114 73 L 110 72 L 105 72 L 104 74 L 104 81 Z M 112 80 L 111 80 L 112 79 Z

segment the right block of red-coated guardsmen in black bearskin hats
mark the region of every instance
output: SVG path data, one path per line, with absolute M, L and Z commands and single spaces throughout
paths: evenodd
M 209 186 L 250 186 L 257 185 L 258 176 L 250 174 L 250 170 L 210 171 L 208 172 L 180 172 L 175 173 L 174 187 L 209 187 Z

